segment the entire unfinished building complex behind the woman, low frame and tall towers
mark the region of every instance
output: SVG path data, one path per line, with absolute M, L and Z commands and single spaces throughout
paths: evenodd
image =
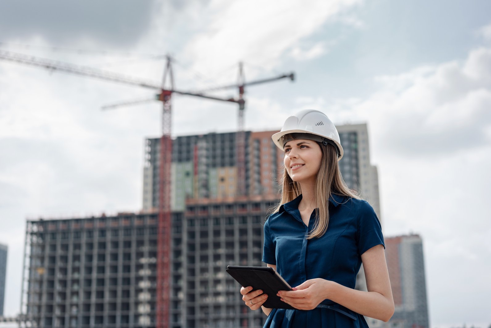
M 366 125 L 338 130 L 342 174 L 379 212 Z M 238 194 L 236 133 L 172 141 L 166 327 L 262 327 L 266 316 L 244 305 L 225 268 L 264 265 L 263 223 L 283 171 L 273 132 L 245 132 L 245 195 Z M 159 139 L 146 140 L 140 213 L 27 221 L 22 313 L 28 323 L 158 326 L 159 147 Z

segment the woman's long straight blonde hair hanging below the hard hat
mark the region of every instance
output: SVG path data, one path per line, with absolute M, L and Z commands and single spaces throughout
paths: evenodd
M 283 138 L 288 138 L 288 135 L 285 135 Z M 321 166 L 319 172 L 317 172 L 317 179 L 314 186 L 318 208 L 316 209 L 314 229 L 309 233 L 307 239 L 318 238 L 326 233 L 329 222 L 329 197 L 332 194 L 349 198 L 360 198 L 355 190 L 348 188 L 341 176 L 337 161 L 337 151 L 334 146 L 330 144 L 324 145 L 319 142 L 317 144 L 321 147 L 322 151 Z M 281 201 L 274 209 L 274 212 L 279 211 L 281 205 L 293 201 L 302 193 L 300 183 L 290 178 L 286 168 L 283 171 L 283 178 L 281 180 Z

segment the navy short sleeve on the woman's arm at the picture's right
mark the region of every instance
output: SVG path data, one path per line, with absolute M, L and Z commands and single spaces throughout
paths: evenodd
M 366 201 L 360 204 L 357 236 L 358 254 L 360 255 L 380 244 L 385 248 L 380 221 L 373 208 Z

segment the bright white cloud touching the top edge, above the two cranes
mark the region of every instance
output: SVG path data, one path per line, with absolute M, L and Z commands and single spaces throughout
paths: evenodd
M 281 62 L 286 51 L 318 30 L 327 18 L 359 2 L 215 0 L 209 11 L 203 13 L 209 15 L 211 24 L 188 43 L 186 57 L 193 67 L 206 67 L 208 72 L 240 60 L 272 68 Z M 316 56 L 320 52 L 318 45 L 307 53 Z

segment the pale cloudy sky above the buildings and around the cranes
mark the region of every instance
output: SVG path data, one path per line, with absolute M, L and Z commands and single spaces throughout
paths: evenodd
M 367 122 L 386 236 L 423 237 L 433 328 L 491 324 L 491 2 L 448 0 L 2 0 L 0 50 L 175 88 L 295 71 L 247 89 L 246 128 L 314 108 Z M 79 50 L 79 51 L 75 51 Z M 235 90 L 218 95 L 234 95 Z M 155 91 L 0 60 L 4 313 L 19 311 L 26 218 L 141 208 Z M 233 131 L 233 104 L 176 95 L 174 135 Z M 486 169 L 488 168 L 488 169 Z

